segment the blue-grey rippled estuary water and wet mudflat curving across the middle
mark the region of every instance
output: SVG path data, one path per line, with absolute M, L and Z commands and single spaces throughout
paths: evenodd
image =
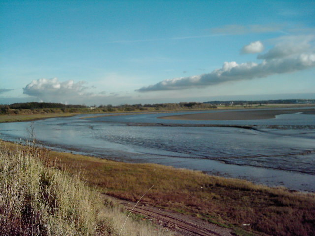
M 244 121 L 157 118 L 163 115 L 89 119 L 80 119 L 87 115 L 79 115 L 34 121 L 33 127 L 36 139 L 56 150 L 159 163 L 315 192 L 315 115 L 284 114 L 274 119 Z M 149 126 L 138 126 L 139 123 Z M 156 123 L 255 125 L 255 129 L 153 126 Z M 32 122 L 2 123 L 0 138 L 29 139 L 31 126 Z

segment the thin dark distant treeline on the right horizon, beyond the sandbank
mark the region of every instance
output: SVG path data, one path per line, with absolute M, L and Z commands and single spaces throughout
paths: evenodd
M 315 99 L 279 99 L 279 100 L 260 100 L 260 101 L 210 101 L 205 102 L 213 105 L 260 105 L 260 104 L 310 104 L 315 103 Z

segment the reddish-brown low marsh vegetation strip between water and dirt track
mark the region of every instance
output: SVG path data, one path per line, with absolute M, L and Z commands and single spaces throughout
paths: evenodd
M 7 143 L 7 148 L 12 147 Z M 49 160 L 74 176 L 84 170 L 81 178 L 91 187 L 134 202 L 154 185 L 142 202 L 195 215 L 237 232 L 315 235 L 315 194 L 157 164 L 120 163 L 59 152 L 49 152 Z

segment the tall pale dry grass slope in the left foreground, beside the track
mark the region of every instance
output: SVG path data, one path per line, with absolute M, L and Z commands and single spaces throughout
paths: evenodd
M 117 236 L 126 214 L 80 180 L 57 170 L 38 148 L 0 141 L 0 235 Z M 163 236 L 162 229 L 128 219 L 121 236 Z

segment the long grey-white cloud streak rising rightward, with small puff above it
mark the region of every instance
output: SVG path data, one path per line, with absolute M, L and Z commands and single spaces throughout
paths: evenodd
M 315 67 L 315 50 L 311 48 L 311 40 L 311 38 L 308 38 L 300 43 L 293 43 L 296 40 L 290 38 L 290 42 L 279 43 L 267 53 L 257 57 L 258 59 L 263 59 L 259 64 L 254 62 L 241 64 L 235 61 L 224 62 L 222 68 L 213 70 L 211 73 L 166 79 L 157 84 L 142 87 L 136 91 L 149 92 L 203 88 L 229 81 L 251 80 L 273 74 L 305 70 Z M 252 46 L 250 45 L 247 45 L 249 46 L 247 48 L 248 51 L 258 51 L 259 43 L 254 42 Z

